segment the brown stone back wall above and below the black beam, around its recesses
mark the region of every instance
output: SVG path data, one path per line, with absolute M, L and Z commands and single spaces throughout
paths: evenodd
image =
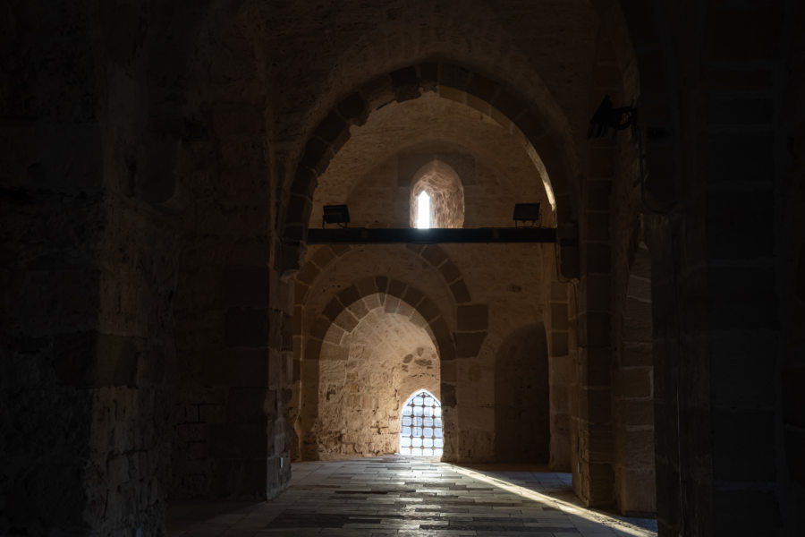
M 441 119 L 437 119 L 438 117 Z M 449 119 L 445 120 L 444 117 Z M 419 122 L 427 123 L 431 128 L 422 132 L 418 127 Z M 433 137 L 434 141 L 419 141 L 423 133 Z M 399 169 L 399 166 L 409 166 L 408 163 L 418 162 L 417 158 L 426 158 L 428 154 L 448 155 L 446 151 L 451 146 L 438 142 L 436 136 L 466 140 L 467 145 L 472 148 L 468 154 L 472 156 L 471 162 L 475 166 L 462 164 L 468 162 L 466 157 L 452 161 L 458 163 L 458 169 L 462 171 L 458 179 L 463 184 L 467 208 L 477 211 L 472 215 L 482 218 L 465 220 L 464 226 L 510 226 L 513 204 L 523 198 L 540 200 L 547 211 L 544 222 L 553 219 L 546 192 L 540 184 L 538 170 L 528 158 L 524 158 L 521 145 L 511 135 L 483 115 L 468 114 L 466 107 L 452 105 L 450 101 L 425 94 L 416 100 L 383 107 L 370 116 L 367 124 L 352 128 L 350 140 L 331 160 L 326 173 L 318 179 L 310 225 L 317 225 L 321 205 L 348 200 L 354 226 L 409 226 L 411 220 L 407 216 L 411 214 L 411 196 L 416 191 L 418 171 L 420 174 L 423 170 L 427 171 L 428 164 L 427 161 L 425 167 L 419 164 L 419 168 L 411 165 L 413 171 L 407 181 L 399 179 L 409 173 Z M 407 149 L 399 153 L 400 149 L 397 147 L 401 137 L 411 137 L 412 141 L 402 144 Z M 393 146 L 393 143 L 397 145 Z M 396 157 L 395 151 L 398 152 Z M 463 151 L 466 153 L 468 149 Z M 388 154 L 392 157 L 386 157 Z M 378 158 L 385 160 L 387 171 L 378 172 L 374 167 L 373 163 Z M 513 163 L 518 162 L 519 166 L 513 166 Z M 454 171 L 455 168 L 450 170 L 451 173 Z M 360 175 L 365 177 L 359 180 Z M 369 281 L 368 277 L 378 274 L 400 280 L 401 286 L 406 286 L 405 282 L 416 281 L 417 287 L 425 296 L 425 300 L 417 306 L 424 317 L 428 317 L 428 303 L 442 304 L 443 308 L 448 306 L 448 310 L 442 312 L 447 320 L 445 336 L 454 340 L 454 352 L 458 359 L 453 362 L 450 356 L 441 357 L 442 390 L 445 395 L 443 403 L 447 405 L 454 398 L 460 409 L 459 413 L 454 414 L 458 420 L 454 431 L 450 431 L 445 418 L 445 435 L 448 435 L 448 431 L 453 435 L 452 439 L 448 435 L 448 443 L 452 440 L 456 445 L 453 452 L 449 448 L 445 449 L 445 459 L 496 460 L 496 378 L 507 378 L 506 375 L 511 374 L 511 368 L 496 372 L 496 357 L 500 345 L 513 326 L 536 323 L 543 316 L 553 313 L 546 303 L 550 293 L 543 290 L 546 286 L 543 276 L 554 273 L 548 251 L 547 248 L 535 249 L 525 245 L 389 245 L 354 247 L 343 257 L 334 258 L 330 247 L 311 247 L 308 254 L 310 261 L 303 265 L 297 276 L 301 285 L 296 286 L 300 294 L 296 297 L 300 304 L 297 311 L 306 312 L 305 320 L 299 326 L 309 327 L 311 330 L 307 336 L 303 333 L 304 328 L 302 332 L 296 332 L 299 334 L 296 347 L 301 361 L 300 371 L 305 371 L 303 361 L 316 360 L 319 356 L 323 359 L 325 355 L 335 352 L 327 342 L 332 337 L 324 337 L 321 333 L 324 325 L 316 319 L 318 312 L 335 322 L 339 331 L 330 334 L 337 334 L 336 341 L 341 341 L 343 330 L 354 330 L 357 319 L 360 319 L 338 319 L 342 308 L 357 297 L 352 296 L 352 287 L 360 289 L 363 286 L 361 281 Z M 497 262 L 488 263 L 491 259 Z M 351 285 L 353 281 L 356 283 Z M 445 297 L 446 302 L 442 298 L 445 296 L 445 284 L 449 284 L 446 287 L 450 290 Z M 377 286 L 377 282 L 368 284 L 369 291 L 373 285 Z M 385 285 L 386 283 L 380 284 Z M 389 283 L 389 292 L 402 294 L 401 289 L 395 288 L 396 285 L 394 282 Z M 457 285 L 463 288 L 460 294 L 455 292 Z M 550 279 L 547 286 L 550 286 Z M 563 288 L 561 284 L 557 286 Z M 325 305 L 331 293 L 337 293 L 341 298 L 338 303 L 330 302 Z M 565 292 L 563 297 L 556 298 L 557 303 L 566 303 L 566 296 Z M 476 297 L 479 300 L 476 301 Z M 421 300 L 419 295 L 407 296 L 407 299 L 411 305 L 416 305 Z M 388 303 L 386 299 L 386 304 Z M 453 310 L 456 306 L 451 308 L 451 303 L 457 304 L 457 309 Z M 391 311 L 398 311 L 401 307 L 394 301 L 392 304 Z M 492 304 L 492 307 L 488 304 Z M 389 311 L 388 307 L 386 311 Z M 564 330 L 567 328 L 567 316 L 566 307 L 564 310 L 557 310 L 556 325 Z M 437 331 L 434 328 L 434 332 Z M 562 334 L 561 330 L 559 334 Z M 324 338 L 324 343 L 319 345 L 316 338 Z M 558 357 L 567 354 L 566 344 L 563 349 L 557 350 Z M 347 352 L 340 351 L 339 355 L 346 356 Z M 311 364 L 310 367 L 316 366 Z M 548 382 L 550 377 L 550 385 L 555 391 L 555 405 L 549 404 L 547 384 L 541 392 L 544 399 L 537 397 L 538 412 L 545 416 L 545 421 L 537 429 L 544 425 L 555 433 L 555 441 L 553 436 L 550 437 L 554 447 L 550 460 L 555 467 L 566 465 L 570 457 L 564 417 L 567 413 L 567 375 L 566 368 L 560 366 L 554 367 L 550 375 L 547 371 L 541 375 L 540 382 Z M 320 376 L 311 376 L 308 382 L 313 384 L 306 386 L 302 374 L 301 384 L 294 396 L 294 400 L 298 398 L 302 407 L 305 400 L 312 403 L 304 395 L 307 390 L 316 389 L 317 386 L 319 391 L 324 389 L 321 388 L 323 378 Z M 449 393 L 445 392 L 445 383 Z M 323 415 L 322 402 L 319 400 L 316 405 L 318 415 Z M 555 418 L 549 424 L 548 415 L 551 413 Z M 312 406 L 294 415 L 300 416 L 301 430 L 298 433 L 306 438 L 303 445 L 308 446 L 301 447 L 300 456 L 320 456 L 322 450 L 314 446 L 320 445 L 322 440 L 316 434 L 310 434 L 314 427 L 318 427 Z M 511 424 L 510 421 L 506 426 Z M 540 442 L 548 442 L 547 431 L 540 431 L 539 435 L 542 435 Z M 325 443 L 332 444 L 332 438 L 333 435 L 328 433 Z M 536 449 L 540 460 L 548 462 L 547 444 L 533 449 L 524 445 L 520 447 L 523 453 L 528 452 L 531 455 Z M 345 449 L 347 453 L 352 453 L 351 446 Z M 530 455 L 507 455 L 511 456 L 522 459 Z

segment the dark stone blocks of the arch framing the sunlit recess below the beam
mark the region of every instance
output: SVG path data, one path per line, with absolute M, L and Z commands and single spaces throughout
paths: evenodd
M 402 303 L 402 306 L 394 306 L 392 311 L 402 308 L 411 312 L 413 308 L 422 319 L 427 320 L 427 328 L 434 335 L 440 357 L 439 397 L 445 410 L 445 430 L 451 430 L 451 420 L 457 419 L 453 410 L 456 405 L 456 358 L 478 354 L 487 337 L 488 305 L 472 302 L 462 271 L 443 248 L 436 244 L 409 244 L 402 250 L 404 256 L 401 259 L 414 261 L 423 268 L 427 267 L 428 272 L 432 271 L 431 276 L 435 281 L 431 286 L 436 284 L 443 293 L 439 305 L 423 291 L 402 279 L 369 276 L 361 277 L 352 284 L 340 283 L 339 286 L 343 286 L 341 291 L 328 302 L 326 296 L 321 297 L 315 310 L 310 310 L 311 296 L 318 295 L 311 292 L 317 288 L 321 278 L 329 274 L 339 260 L 347 260 L 350 252 L 354 253 L 354 249 L 348 246 L 325 245 L 315 248 L 294 278 L 292 323 L 284 325 L 284 341 L 288 342 L 287 348 L 292 351 L 292 398 L 289 405 L 289 419 L 294 424 L 292 458 L 315 456 L 315 449 L 303 448 L 307 431 L 313 426 L 311 416 L 315 416 L 316 411 L 308 411 L 303 417 L 302 408 L 307 406 L 310 410 L 318 405 L 318 399 L 309 388 L 318 386 L 318 366 L 312 365 L 310 361 L 318 359 L 328 330 L 343 311 L 348 311 L 352 318 L 344 317 L 340 320 L 342 326 L 351 326 L 362 319 L 367 306 L 361 304 L 369 294 L 389 294 L 391 298 L 386 300 L 386 305 Z M 436 287 L 430 290 L 435 292 Z M 449 310 L 445 311 L 445 307 Z M 343 329 L 338 325 L 335 327 Z M 449 434 L 447 438 L 458 441 Z M 446 457 L 453 456 L 456 449 L 453 444 L 445 446 L 445 460 Z

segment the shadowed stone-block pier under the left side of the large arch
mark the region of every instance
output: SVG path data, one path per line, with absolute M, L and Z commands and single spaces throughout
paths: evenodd
M 275 267 L 267 103 L 258 97 L 257 79 L 239 98 L 230 93 L 238 70 L 254 61 L 246 36 L 228 33 L 248 35 L 239 23 L 211 30 L 230 43 L 226 50 L 204 44 L 194 58 L 192 74 L 211 81 L 191 92 L 192 134 L 182 144 L 183 173 L 170 201 L 186 209 L 174 298 L 171 495 L 177 499 L 270 498 L 290 479 L 291 371 L 283 342 L 290 294 Z M 216 56 L 232 50 L 247 63 Z M 196 166 L 210 173 L 193 173 Z

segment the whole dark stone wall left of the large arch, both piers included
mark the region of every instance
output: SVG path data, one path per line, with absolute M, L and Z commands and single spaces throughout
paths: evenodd
M 57 408 L 8 430 L 3 498 L 17 503 L 3 512 L 18 515 L 0 533 L 159 534 L 169 490 L 266 498 L 289 476 L 265 90 L 224 57 L 250 50 L 242 13 L 62 7 L 9 6 L 4 47 L 19 70 L 4 117 L 21 125 L 4 134 L 17 144 L 4 219 L 38 222 L 4 238 L 25 295 L 7 301 L 30 304 L 4 326 L 35 337 L 23 354 L 50 356 L 39 367 L 4 345 L 4 379 L 32 382 L 7 385 L 4 408 L 40 383 Z M 69 429 L 43 426 L 54 418 Z

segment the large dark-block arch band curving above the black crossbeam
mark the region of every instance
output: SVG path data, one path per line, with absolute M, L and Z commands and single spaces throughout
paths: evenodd
M 284 216 L 284 245 L 289 255 L 284 255 L 284 270 L 298 268 L 298 256 L 290 251 L 304 243 L 312 193 L 335 153 L 350 137 L 350 126 L 366 122 L 369 114 L 390 100 L 403 101 L 417 98 L 423 91 L 436 91 L 448 98 L 473 107 L 501 124 L 521 141 L 539 176 L 542 178 L 548 201 L 556 211 L 558 226 L 563 235 L 575 234 L 576 212 L 574 187 L 571 181 L 572 166 L 565 144 L 560 136 L 552 134 L 542 112 L 528 101 L 504 86 L 503 83 L 460 65 L 445 62 L 423 62 L 403 67 L 386 76 L 377 77 L 360 86 L 343 98 L 326 115 L 309 137 L 291 186 L 291 198 Z M 378 100 L 381 93 L 392 98 Z M 565 249 L 575 249 L 572 243 L 563 243 Z M 572 253 L 572 252 L 571 252 Z M 577 256 L 561 259 L 563 272 L 576 274 Z

